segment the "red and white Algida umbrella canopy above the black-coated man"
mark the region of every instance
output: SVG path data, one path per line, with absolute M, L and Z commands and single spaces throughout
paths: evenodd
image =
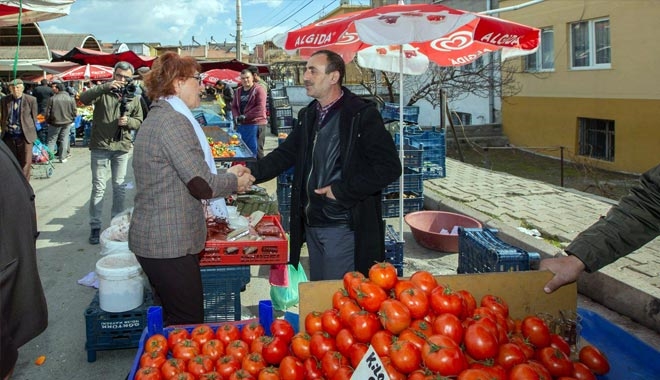
M 406 44 L 408 58 L 423 55 L 440 66 L 462 66 L 500 49 L 505 56 L 529 54 L 538 41 L 539 29 L 511 21 L 437 4 L 399 4 L 347 13 L 293 30 L 284 47 L 301 49 L 302 55 L 308 54 L 305 49 L 328 48 L 348 61 L 356 53 L 359 58 L 372 45 L 377 48 L 371 54 L 377 56 L 397 50 L 388 48 L 390 45 Z

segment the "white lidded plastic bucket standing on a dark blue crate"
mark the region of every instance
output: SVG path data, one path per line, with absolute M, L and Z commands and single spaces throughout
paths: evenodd
M 99 306 L 119 313 L 135 309 L 144 301 L 142 267 L 132 253 L 107 255 L 96 262 Z

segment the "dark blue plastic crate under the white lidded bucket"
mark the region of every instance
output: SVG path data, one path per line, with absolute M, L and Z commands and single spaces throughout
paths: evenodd
M 145 289 L 142 305 L 133 310 L 111 313 L 101 309 L 97 291 L 85 310 L 87 361 L 96 361 L 96 351 L 137 347 L 142 330 L 147 326 L 147 309 L 153 303 L 151 291 Z

